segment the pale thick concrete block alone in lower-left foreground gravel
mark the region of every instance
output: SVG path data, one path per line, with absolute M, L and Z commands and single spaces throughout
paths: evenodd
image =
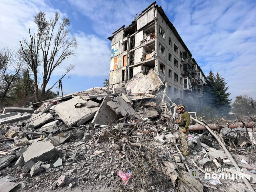
M 48 161 L 52 160 L 57 153 L 57 149 L 50 143 L 50 141 L 46 142 L 33 142 L 23 153 L 24 161 L 29 162 L 31 160 L 37 161 Z

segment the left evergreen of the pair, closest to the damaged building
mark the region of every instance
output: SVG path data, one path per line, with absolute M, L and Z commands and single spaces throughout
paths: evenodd
M 215 76 L 210 70 L 209 75 L 206 77 L 206 83 L 204 86 L 204 92 L 203 92 L 203 97 L 202 97 L 202 102 L 204 106 L 212 106 L 215 107 L 215 92 L 214 92 L 214 87 L 215 87 Z

